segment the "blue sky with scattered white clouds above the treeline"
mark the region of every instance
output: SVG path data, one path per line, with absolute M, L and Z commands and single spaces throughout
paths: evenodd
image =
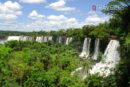
M 109 0 L 0 0 L 0 30 L 50 31 L 98 25 Z M 92 10 L 95 6 L 96 10 Z

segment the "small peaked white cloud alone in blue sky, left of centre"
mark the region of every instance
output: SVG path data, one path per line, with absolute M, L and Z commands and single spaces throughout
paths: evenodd
M 39 14 L 36 10 L 33 10 L 29 16 L 30 19 L 34 19 L 34 20 L 39 20 L 39 19 L 43 19 L 45 16 Z

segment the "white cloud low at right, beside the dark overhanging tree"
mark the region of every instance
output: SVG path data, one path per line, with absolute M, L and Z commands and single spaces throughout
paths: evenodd
M 86 18 L 85 23 L 87 25 L 98 25 L 108 20 L 109 17 L 99 17 L 96 12 L 89 12 L 89 16 Z

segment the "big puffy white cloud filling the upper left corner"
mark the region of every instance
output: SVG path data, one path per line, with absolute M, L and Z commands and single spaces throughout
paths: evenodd
M 12 22 L 22 15 L 21 5 L 17 2 L 0 3 L 0 21 Z

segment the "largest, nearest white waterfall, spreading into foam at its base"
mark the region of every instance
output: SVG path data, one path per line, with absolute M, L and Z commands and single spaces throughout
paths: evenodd
M 104 52 L 103 60 L 90 70 L 90 74 L 99 74 L 100 76 L 108 76 L 113 73 L 116 64 L 120 60 L 120 53 L 118 48 L 120 47 L 119 41 L 111 40 Z

